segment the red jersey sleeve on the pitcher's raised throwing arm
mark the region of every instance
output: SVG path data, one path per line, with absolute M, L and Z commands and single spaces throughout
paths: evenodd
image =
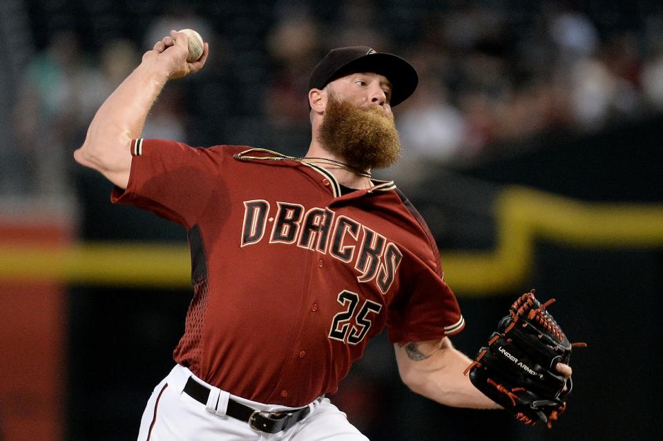
M 195 225 L 214 188 L 221 183 L 223 155 L 165 139 L 131 142 L 131 171 L 126 190 L 115 187 L 113 204 L 152 211 L 186 229 Z

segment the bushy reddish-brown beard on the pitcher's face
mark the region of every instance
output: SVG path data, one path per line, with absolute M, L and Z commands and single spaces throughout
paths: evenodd
M 387 168 L 401 154 L 394 115 L 379 106 L 358 108 L 329 94 L 318 141 L 325 150 L 360 170 Z

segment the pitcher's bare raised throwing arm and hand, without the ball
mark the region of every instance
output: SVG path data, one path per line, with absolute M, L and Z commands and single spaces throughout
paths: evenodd
M 205 43 L 200 60 L 186 62 L 188 39 L 171 31 L 145 52 L 142 62 L 104 101 L 88 128 L 85 142 L 74 152 L 79 164 L 102 173 L 126 188 L 131 169 L 131 140 L 140 137 L 145 119 L 166 81 L 198 72 L 209 53 Z

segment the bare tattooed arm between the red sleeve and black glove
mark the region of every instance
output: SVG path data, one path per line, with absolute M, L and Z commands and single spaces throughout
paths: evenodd
M 412 391 L 448 406 L 500 409 L 463 375 L 472 360 L 448 339 L 436 348 L 430 343 L 410 343 L 401 350 L 397 348 L 396 357 L 401 377 Z

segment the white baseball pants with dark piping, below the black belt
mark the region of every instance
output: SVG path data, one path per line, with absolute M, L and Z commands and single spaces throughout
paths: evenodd
M 286 431 L 255 431 L 246 421 L 225 415 L 229 398 L 261 411 L 289 408 L 244 400 L 206 384 L 213 409 L 182 392 L 189 377 L 206 384 L 177 364 L 155 387 L 140 422 L 138 441 L 368 441 L 327 398 L 309 404 L 311 413 Z

